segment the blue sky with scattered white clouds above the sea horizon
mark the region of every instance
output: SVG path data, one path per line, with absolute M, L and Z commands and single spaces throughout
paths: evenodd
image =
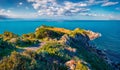
M 120 20 L 120 0 L 0 0 L 0 18 Z

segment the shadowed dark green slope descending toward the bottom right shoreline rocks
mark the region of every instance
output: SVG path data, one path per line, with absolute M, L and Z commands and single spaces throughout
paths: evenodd
M 78 49 L 78 57 L 88 62 L 93 70 L 113 70 L 102 58 L 96 55 L 94 52 L 88 51 L 85 47 L 80 47 L 79 42 L 72 42 L 76 49 Z

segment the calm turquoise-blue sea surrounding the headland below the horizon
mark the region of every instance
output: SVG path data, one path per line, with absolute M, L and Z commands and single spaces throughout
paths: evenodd
M 102 34 L 93 42 L 99 49 L 103 49 L 111 54 L 111 57 L 120 60 L 120 21 L 0 21 L 0 34 L 4 31 L 22 35 L 34 32 L 41 25 L 62 27 L 67 29 L 82 28 L 92 30 Z

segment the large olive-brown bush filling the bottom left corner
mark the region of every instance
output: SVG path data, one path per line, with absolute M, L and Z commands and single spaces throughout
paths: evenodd
M 36 61 L 28 56 L 12 52 L 10 57 L 0 61 L 0 70 L 34 70 Z

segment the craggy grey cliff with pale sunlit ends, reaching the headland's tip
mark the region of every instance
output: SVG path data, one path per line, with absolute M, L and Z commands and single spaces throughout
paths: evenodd
M 63 35 L 61 37 L 60 40 L 62 42 L 64 42 L 65 44 L 67 44 L 67 45 L 70 45 L 71 41 L 77 41 L 77 42 L 81 42 L 82 44 L 88 45 L 88 42 L 90 40 L 94 40 L 94 39 L 96 39 L 96 38 L 98 38 L 98 37 L 101 36 L 100 33 L 95 33 L 95 32 L 92 32 L 90 30 L 85 31 L 85 32 L 87 32 L 87 33 L 84 33 L 84 34 L 80 34 L 80 33 L 75 34 L 74 37 L 71 37 L 71 36 L 65 34 L 65 35 Z

